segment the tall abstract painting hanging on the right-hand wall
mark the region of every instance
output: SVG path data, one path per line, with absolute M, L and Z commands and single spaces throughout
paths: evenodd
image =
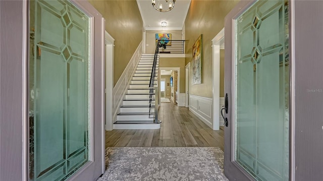
M 193 77 L 192 84 L 202 83 L 202 35 L 193 44 Z

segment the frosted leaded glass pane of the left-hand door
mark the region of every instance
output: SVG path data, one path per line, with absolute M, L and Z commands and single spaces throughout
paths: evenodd
M 90 19 L 69 1 L 30 1 L 29 180 L 89 161 Z

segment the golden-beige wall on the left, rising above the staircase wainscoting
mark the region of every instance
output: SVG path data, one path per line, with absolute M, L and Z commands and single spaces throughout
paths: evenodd
M 89 2 L 102 14 L 105 19 L 105 30 L 115 39 L 114 85 L 116 85 L 142 40 L 143 23 L 138 5 L 135 0 L 89 0 Z

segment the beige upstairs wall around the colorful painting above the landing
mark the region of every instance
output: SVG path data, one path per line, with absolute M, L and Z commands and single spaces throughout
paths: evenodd
M 149 30 L 146 31 L 146 53 L 155 53 L 155 34 L 172 33 L 172 39 L 182 39 L 182 30 Z

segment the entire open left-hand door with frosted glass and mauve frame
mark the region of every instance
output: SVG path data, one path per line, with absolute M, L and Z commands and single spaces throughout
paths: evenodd
M 30 1 L 29 12 L 29 180 L 96 180 L 104 171 L 102 18 L 87 2 Z

